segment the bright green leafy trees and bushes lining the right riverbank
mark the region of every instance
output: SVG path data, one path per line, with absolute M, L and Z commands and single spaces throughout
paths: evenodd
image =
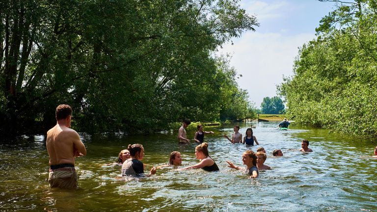
M 296 121 L 376 137 L 376 8 L 375 0 L 340 3 L 300 49 L 295 75 L 278 86 Z

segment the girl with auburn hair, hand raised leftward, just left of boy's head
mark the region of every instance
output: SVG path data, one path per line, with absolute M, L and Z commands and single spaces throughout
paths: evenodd
M 257 156 L 255 153 L 251 150 L 246 150 L 242 154 L 242 162 L 244 165 L 246 165 L 246 168 L 242 168 L 240 166 L 234 165 L 231 161 L 227 160 L 226 161 L 230 168 L 234 168 L 237 170 L 244 170 L 243 173 L 250 175 L 250 178 L 257 178 L 259 175 L 259 171 L 257 168 Z

